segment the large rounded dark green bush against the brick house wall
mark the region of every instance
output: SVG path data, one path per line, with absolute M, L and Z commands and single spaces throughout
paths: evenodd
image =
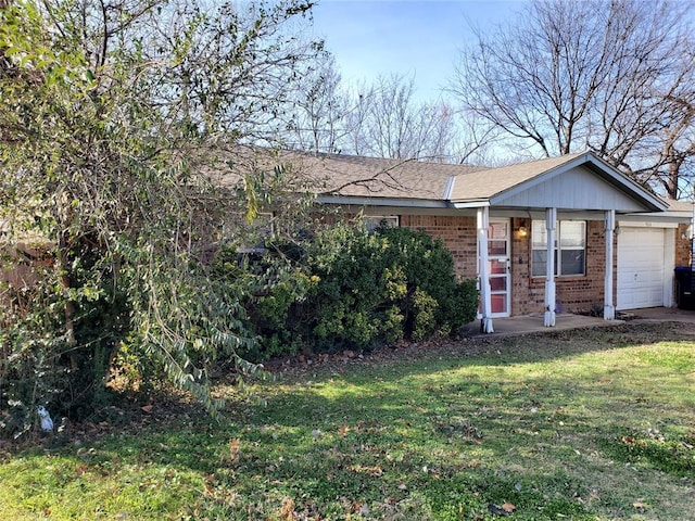
M 252 358 L 420 341 L 475 318 L 475 281 L 457 281 L 451 253 L 420 231 L 342 223 L 287 260 L 269 254 L 258 264 L 266 285 L 248 302 L 261 335 Z

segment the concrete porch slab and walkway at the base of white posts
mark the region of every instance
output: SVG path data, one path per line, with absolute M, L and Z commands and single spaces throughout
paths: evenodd
M 481 333 L 480 320 L 470 322 L 463 328 L 467 336 L 497 338 L 518 334 L 566 331 L 583 328 L 605 328 L 626 322 L 691 322 L 695 323 L 695 310 L 679 309 L 675 307 L 650 307 L 646 309 L 631 309 L 619 312 L 618 319 L 604 320 L 598 317 L 573 315 L 571 313 L 558 313 L 555 318 L 555 327 L 543 326 L 543 314 L 525 315 L 522 317 L 495 318 L 492 323 L 494 333 Z

